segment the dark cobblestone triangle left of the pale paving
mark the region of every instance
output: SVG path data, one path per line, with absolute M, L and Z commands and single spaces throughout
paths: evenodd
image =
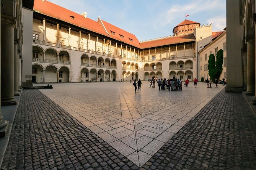
M 2 169 L 138 169 L 39 90 L 23 90 Z

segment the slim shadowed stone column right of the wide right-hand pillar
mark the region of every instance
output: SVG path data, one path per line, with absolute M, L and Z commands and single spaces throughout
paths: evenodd
M 247 42 L 247 91 L 245 95 L 254 96 L 255 90 L 255 42 L 254 37 Z

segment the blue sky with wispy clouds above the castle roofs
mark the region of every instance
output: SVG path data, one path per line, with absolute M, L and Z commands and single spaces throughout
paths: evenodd
M 49 0 L 97 21 L 98 16 L 134 34 L 139 41 L 173 35 L 185 19 L 212 23 L 212 31 L 226 27 L 226 0 Z

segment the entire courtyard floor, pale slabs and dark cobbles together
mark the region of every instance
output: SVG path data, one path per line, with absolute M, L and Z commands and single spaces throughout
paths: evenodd
M 256 169 L 256 114 L 223 85 L 52 85 L 21 92 L 2 169 Z

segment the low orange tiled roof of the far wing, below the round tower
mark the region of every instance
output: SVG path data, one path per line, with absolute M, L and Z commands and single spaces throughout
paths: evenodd
M 159 47 L 162 45 L 176 44 L 176 43 L 184 43 L 184 42 L 192 42 L 196 41 L 194 34 L 175 36 L 170 38 L 162 38 L 158 40 L 152 40 L 148 42 L 140 43 L 141 48 L 150 48 L 150 47 Z

